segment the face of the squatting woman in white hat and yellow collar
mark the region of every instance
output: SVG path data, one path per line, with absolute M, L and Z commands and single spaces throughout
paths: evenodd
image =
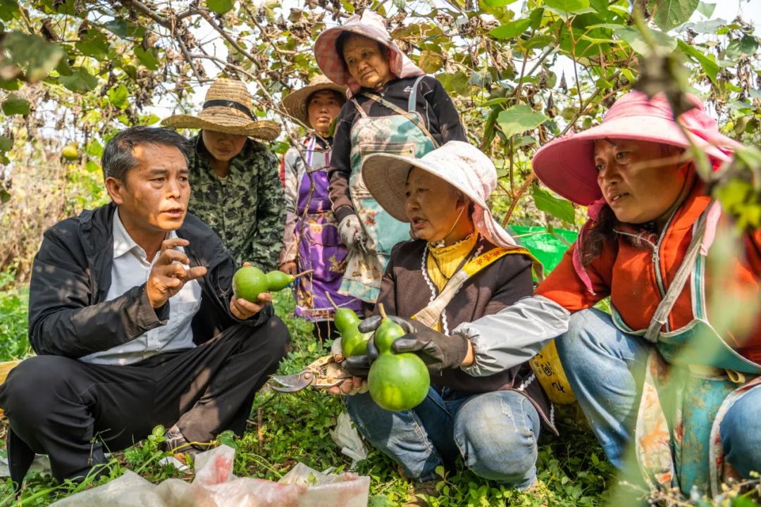
M 407 177 L 407 218 L 418 239 L 435 243 L 452 232 L 460 211 L 459 223 L 466 223 L 470 201 L 443 179 L 413 167 Z

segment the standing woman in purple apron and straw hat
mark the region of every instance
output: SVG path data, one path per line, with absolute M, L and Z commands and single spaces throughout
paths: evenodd
M 295 312 L 315 323 L 314 335 L 320 341 L 336 337 L 331 326 L 335 309 L 326 293 L 337 306 L 360 310 L 358 299 L 338 292 L 348 250 L 330 208 L 326 172 L 333 144 L 330 127 L 346 101 L 345 91 L 345 86 L 317 76 L 283 100 L 288 114 L 313 133 L 301 140 L 301 149 L 291 147 L 283 157 L 288 214 L 280 270 L 290 274 L 314 270 L 310 277 L 298 279 Z

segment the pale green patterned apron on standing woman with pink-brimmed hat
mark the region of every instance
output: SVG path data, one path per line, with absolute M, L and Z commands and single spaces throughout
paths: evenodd
M 368 116 L 352 99 L 360 118 L 352 126 L 349 192 L 361 227 L 368 237 L 368 252 L 349 252 L 339 292 L 368 303 L 375 303 L 380 293 L 380 278 L 386 269 L 391 248 L 409 239 L 409 224 L 393 218 L 372 198 L 362 179 L 362 162 L 376 153 L 422 157 L 438 147 L 415 107 L 418 85 L 423 77 L 420 76 L 412 85 L 406 111 L 375 93 L 364 92 L 366 97 L 396 112 L 394 115 Z

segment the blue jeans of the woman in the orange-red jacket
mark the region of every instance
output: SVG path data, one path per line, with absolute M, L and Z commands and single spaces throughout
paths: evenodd
M 610 315 L 597 309 L 574 313 L 556 344 L 592 431 L 610 462 L 622 470 L 651 345 L 619 331 Z M 748 392 L 728 411 L 721 423 L 721 445 L 728 463 L 743 477 L 761 471 L 761 391 Z

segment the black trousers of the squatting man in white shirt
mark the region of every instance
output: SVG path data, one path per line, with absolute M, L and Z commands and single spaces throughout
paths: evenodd
M 126 366 L 30 357 L 0 385 L 16 437 L 9 454 L 24 443 L 27 452 L 49 455 L 53 477 L 63 480 L 88 474 L 106 461 L 104 452 L 129 447 L 158 424 L 177 424 L 189 442 L 224 429 L 240 436 L 256 391 L 287 347 L 288 328 L 273 316 L 258 328 L 234 325 L 193 349 Z

